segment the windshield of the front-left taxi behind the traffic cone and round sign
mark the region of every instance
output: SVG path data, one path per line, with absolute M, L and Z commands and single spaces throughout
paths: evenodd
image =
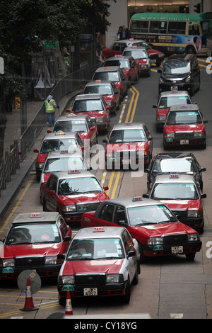
M 45 222 L 33 224 L 30 222 L 28 224 L 13 225 L 6 237 L 5 244 L 20 245 L 59 242 L 61 242 L 61 236 L 55 223 Z

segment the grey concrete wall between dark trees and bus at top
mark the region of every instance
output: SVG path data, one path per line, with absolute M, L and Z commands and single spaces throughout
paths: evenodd
M 110 47 L 110 45 L 117 40 L 117 31 L 119 26 L 126 26 L 128 27 L 127 21 L 127 0 L 117 0 L 108 1 L 110 4 L 110 17 L 108 21 L 110 21 L 111 26 L 108 27 L 105 33 L 105 46 Z

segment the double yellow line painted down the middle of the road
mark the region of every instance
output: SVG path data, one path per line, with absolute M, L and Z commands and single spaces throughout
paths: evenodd
M 131 86 L 131 88 L 129 90 L 131 91 L 132 96 L 131 96 L 131 100 L 130 100 L 130 103 L 129 103 L 129 109 L 128 109 L 127 114 L 126 114 L 125 123 L 129 123 L 129 122 L 132 123 L 133 122 L 134 115 L 135 115 L 135 112 L 136 112 L 136 106 L 137 106 L 138 99 L 139 99 L 139 91 L 134 86 Z M 125 108 L 126 108 L 126 104 L 124 104 L 123 107 L 122 107 L 122 112 L 121 112 L 121 115 L 119 117 L 119 123 L 122 123 L 122 118 L 123 118 L 123 115 L 124 115 Z M 115 193 L 117 191 L 117 186 L 119 184 L 120 174 L 121 174 L 121 171 L 112 171 L 112 173 L 110 175 L 110 179 L 109 179 L 109 182 L 108 182 L 109 189 L 107 190 L 107 196 L 109 196 L 111 199 L 113 199 L 115 197 Z M 105 183 L 106 176 L 107 176 L 107 170 L 105 170 L 103 172 L 102 181 L 101 181 L 102 185 Z M 112 186 L 114 176 L 115 176 L 115 181 L 114 181 L 114 186 Z

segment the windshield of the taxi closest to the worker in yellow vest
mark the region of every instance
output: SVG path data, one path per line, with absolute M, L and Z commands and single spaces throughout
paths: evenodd
M 58 130 L 63 132 L 88 132 L 88 126 L 85 120 L 57 121 L 54 125 L 54 132 Z

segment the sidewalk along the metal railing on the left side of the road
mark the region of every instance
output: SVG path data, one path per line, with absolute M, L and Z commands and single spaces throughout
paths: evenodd
M 69 108 L 71 104 L 71 99 L 76 95 L 81 94 L 82 90 L 78 89 L 76 91 L 67 94 L 59 100 L 60 115 Z M 37 111 L 39 111 L 40 106 L 44 101 L 27 101 L 27 124 L 30 125 L 33 118 L 35 117 Z M 13 145 L 14 140 L 20 141 L 20 109 L 13 109 L 12 114 L 7 114 L 6 130 L 4 133 L 4 151 L 10 151 L 11 145 Z M 59 117 L 58 111 L 55 112 L 55 120 Z M 23 183 L 23 179 L 30 170 L 31 166 L 37 158 L 37 154 L 33 152 L 34 148 L 40 148 L 41 142 L 47 133 L 47 129 L 50 129 L 49 124 L 46 123 L 44 128 L 42 128 L 40 135 L 36 138 L 33 147 L 31 147 L 27 156 L 20 162 L 20 169 L 16 169 L 16 174 L 11 176 L 11 181 L 6 183 L 6 189 L 1 190 L 0 196 L 0 216 L 5 213 L 8 204 L 11 202 L 12 198 L 16 195 L 16 191 L 20 184 Z M 51 128 L 52 129 L 52 128 Z

